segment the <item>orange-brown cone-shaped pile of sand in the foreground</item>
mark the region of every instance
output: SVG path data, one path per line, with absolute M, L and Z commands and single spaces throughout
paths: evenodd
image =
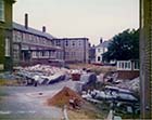
M 49 106 L 63 107 L 64 105 L 69 105 L 71 99 L 78 99 L 83 102 L 83 98 L 75 91 L 67 86 L 64 86 L 58 94 L 47 101 Z

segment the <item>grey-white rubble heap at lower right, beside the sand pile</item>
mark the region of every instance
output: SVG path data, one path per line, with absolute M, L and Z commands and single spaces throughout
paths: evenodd
M 132 94 L 131 91 L 127 89 L 119 89 L 117 86 L 106 85 L 104 90 L 89 90 L 87 92 L 83 92 L 83 98 L 94 102 L 94 101 L 117 101 L 117 102 L 135 102 L 137 103 L 137 97 Z

